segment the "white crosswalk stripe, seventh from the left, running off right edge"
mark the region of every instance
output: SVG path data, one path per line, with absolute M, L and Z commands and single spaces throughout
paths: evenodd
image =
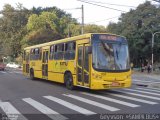
M 120 93 L 139 96 L 139 97 L 145 97 L 145 98 L 149 98 L 149 99 L 153 99 L 153 100 L 160 100 L 159 97 L 154 97 L 154 96 L 150 96 L 150 95 L 148 96 L 148 95 L 136 94 L 136 93 L 126 92 L 126 91 L 115 91 L 115 92 L 120 92 Z

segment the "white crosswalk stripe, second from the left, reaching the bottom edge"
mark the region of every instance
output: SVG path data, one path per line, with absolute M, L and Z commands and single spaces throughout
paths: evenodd
M 53 120 L 66 120 L 66 119 L 68 119 L 65 116 L 59 114 L 58 112 L 43 105 L 42 103 L 39 103 L 39 102 L 33 100 L 32 98 L 24 98 L 22 100 L 27 102 L 28 104 L 33 106 L 35 109 L 39 110 L 40 112 L 47 115 L 49 118 L 51 118 Z

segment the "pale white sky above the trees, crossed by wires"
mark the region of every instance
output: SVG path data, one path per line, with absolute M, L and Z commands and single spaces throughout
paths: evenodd
M 107 26 L 110 22 L 117 22 L 122 13 L 128 12 L 131 8 L 135 9 L 139 4 L 144 3 L 146 0 L 81 0 L 88 1 L 100 6 L 80 2 L 80 0 L 0 0 L 0 10 L 3 9 L 5 4 L 11 4 L 16 7 L 17 3 L 21 3 L 24 7 L 31 9 L 34 7 L 53 7 L 56 6 L 67 13 L 70 13 L 73 18 L 81 22 L 82 10 L 84 6 L 84 23 L 97 24 Z M 127 5 L 115 6 L 111 4 Z M 113 8 L 113 9 L 108 9 Z

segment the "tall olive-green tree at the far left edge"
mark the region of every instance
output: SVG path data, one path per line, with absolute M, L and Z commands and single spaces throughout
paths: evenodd
M 17 8 L 6 4 L 0 18 L 0 41 L 6 55 L 17 57 L 21 53 L 21 40 L 25 36 L 29 11 L 21 4 Z

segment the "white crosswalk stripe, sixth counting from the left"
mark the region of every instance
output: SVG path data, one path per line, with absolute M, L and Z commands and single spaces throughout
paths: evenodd
M 113 95 L 113 96 L 120 97 L 120 98 L 125 98 L 125 99 L 129 99 L 129 100 L 133 100 L 133 101 L 137 101 L 137 102 L 142 102 L 142 103 L 146 103 L 146 104 L 151 104 L 151 105 L 158 104 L 157 102 L 152 102 L 152 101 L 148 101 L 148 100 L 143 100 L 143 99 L 139 99 L 139 98 L 135 98 L 135 97 L 129 97 L 129 96 L 126 96 L 126 95 L 111 94 L 111 93 L 106 93 L 106 94 Z

